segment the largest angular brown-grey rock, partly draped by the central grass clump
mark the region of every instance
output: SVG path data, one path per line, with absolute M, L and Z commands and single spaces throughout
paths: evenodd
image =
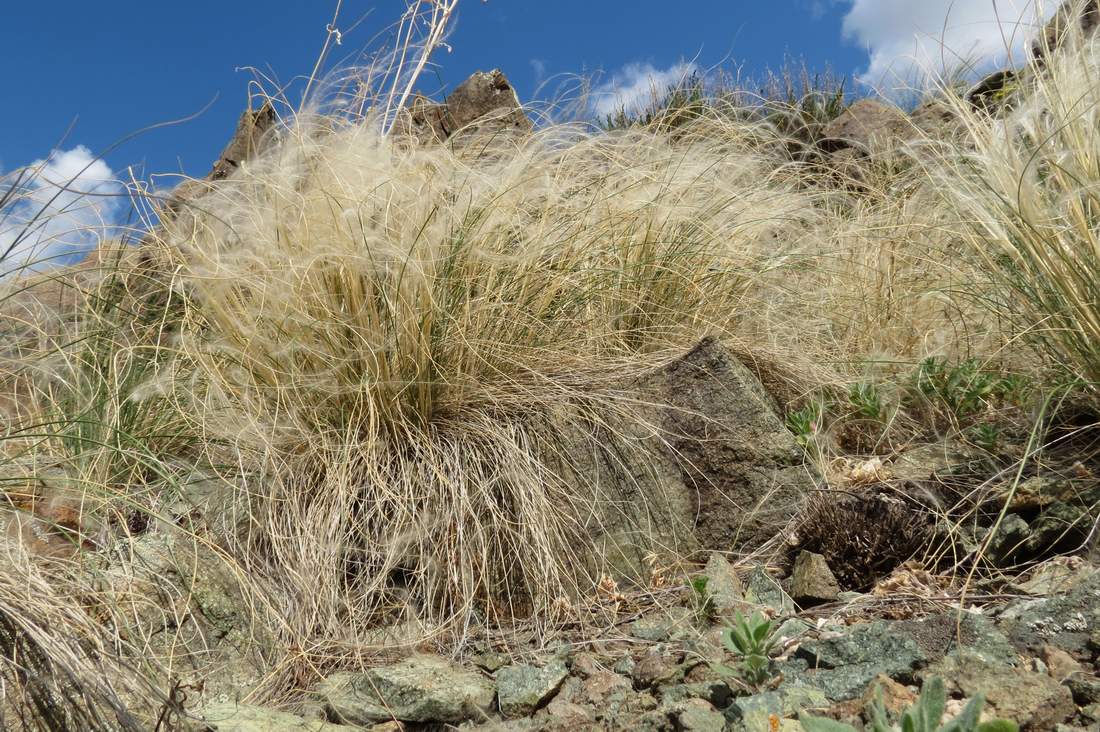
M 631 413 L 607 415 L 608 429 L 632 447 L 608 450 L 576 429 L 554 467 L 600 485 L 598 513 L 579 520 L 597 528 L 596 560 L 616 579 L 649 582 L 654 556 L 756 549 L 815 488 L 774 401 L 719 340 L 623 389 Z

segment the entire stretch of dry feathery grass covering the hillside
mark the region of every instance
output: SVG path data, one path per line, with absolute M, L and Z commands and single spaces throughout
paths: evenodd
M 382 626 L 596 627 L 586 461 L 645 461 L 630 385 L 706 336 L 823 490 L 927 445 L 1011 472 L 1052 394 L 1094 414 L 1098 70 L 1078 44 L 994 113 L 945 91 L 949 130 L 843 168 L 810 152 L 832 83 L 464 144 L 302 112 L 140 248 L 0 280 L 6 719 L 151 729 L 238 642 L 263 700 Z

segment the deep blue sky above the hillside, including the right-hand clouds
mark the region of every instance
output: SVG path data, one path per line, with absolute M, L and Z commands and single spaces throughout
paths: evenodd
M 280 83 L 308 74 L 336 0 L 7 6 L 0 174 L 54 150 L 67 155 L 55 167 L 78 170 L 128 133 L 204 110 L 108 152 L 91 172 L 101 178 L 128 177 L 128 166 L 140 176 L 204 175 L 245 105 L 253 78 L 245 67 Z M 336 57 L 367 44 L 404 8 L 404 0 L 343 0 Z M 939 40 L 959 55 L 1003 58 L 1007 44 L 1021 44 L 1022 34 L 1010 37 L 1012 21 L 1034 18 L 1027 0 L 461 0 L 459 8 L 452 51 L 436 56 L 422 86 L 446 91 L 473 70 L 499 67 L 525 101 L 559 75 L 598 73 L 614 95 L 674 76 L 685 63 L 755 75 L 787 56 L 882 84 L 910 69 L 914 52 L 938 58 Z

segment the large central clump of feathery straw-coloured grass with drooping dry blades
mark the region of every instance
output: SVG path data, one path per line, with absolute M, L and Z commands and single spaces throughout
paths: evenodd
M 630 376 L 732 327 L 804 198 L 730 125 L 486 154 L 370 122 L 300 120 L 169 225 L 196 428 L 241 456 L 239 548 L 300 633 L 544 618 L 636 510 L 579 459 L 631 449 Z

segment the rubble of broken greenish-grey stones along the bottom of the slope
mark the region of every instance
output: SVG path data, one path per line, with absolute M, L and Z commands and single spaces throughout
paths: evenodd
M 826 565 L 809 565 L 780 580 L 762 567 L 739 571 L 716 554 L 703 575 L 705 603 L 684 591 L 683 604 L 623 612 L 598 642 L 486 646 L 459 660 L 414 654 L 326 678 L 298 713 L 222 701 L 198 714 L 219 732 L 799 730 L 801 711 L 859 725 L 876 689 L 897 713 L 924 680 L 942 677 L 948 714 L 981 693 L 988 714 L 1022 730 L 1100 729 L 1094 565 L 1052 560 L 996 594 L 976 589 L 961 602 L 936 578 L 900 568 L 869 593 L 800 610 L 792 593 L 836 596 Z M 630 603 L 617 601 L 624 610 Z M 760 685 L 743 680 L 722 642 L 738 609 L 762 610 L 779 624 L 770 679 Z

